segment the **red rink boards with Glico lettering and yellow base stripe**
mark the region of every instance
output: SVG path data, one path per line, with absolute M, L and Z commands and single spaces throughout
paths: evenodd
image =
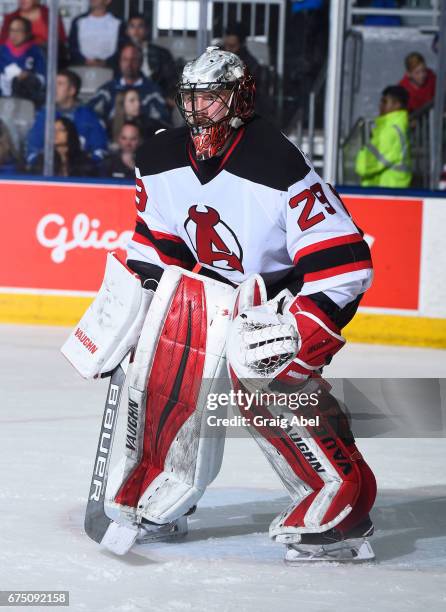
M 347 338 L 446 348 L 446 198 L 343 199 L 375 267 Z M 106 253 L 125 256 L 133 186 L 1 180 L 0 201 L 0 321 L 74 325 L 101 284 Z

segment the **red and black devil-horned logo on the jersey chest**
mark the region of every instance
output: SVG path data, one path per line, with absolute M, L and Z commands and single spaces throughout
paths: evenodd
M 243 274 L 243 251 L 237 236 L 210 206 L 189 208 L 184 228 L 197 260 L 220 270 L 237 270 Z

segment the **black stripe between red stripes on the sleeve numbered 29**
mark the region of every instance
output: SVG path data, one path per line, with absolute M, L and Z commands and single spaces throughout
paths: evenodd
M 319 272 L 336 266 L 354 263 L 357 261 L 369 261 L 372 256 L 368 244 L 362 240 L 351 244 L 341 244 L 336 247 L 309 253 L 299 259 L 296 271 L 299 274 Z

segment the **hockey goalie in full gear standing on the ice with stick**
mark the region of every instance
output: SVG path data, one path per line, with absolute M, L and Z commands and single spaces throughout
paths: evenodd
M 127 261 L 108 256 L 101 290 L 63 347 L 83 376 L 113 373 L 90 491 L 104 504 L 89 529 L 121 553 L 185 535 L 222 460 L 209 393 L 314 390 L 307 416 L 318 418 L 306 426 L 275 426 L 271 403 L 238 406 L 290 495 L 270 537 L 289 564 L 368 560 L 375 479 L 322 369 L 371 284 L 370 251 L 335 189 L 254 113 L 254 95 L 232 53 L 209 47 L 185 66 L 185 126 L 137 156 Z M 105 492 L 122 389 L 113 377 L 130 354 L 125 453 Z

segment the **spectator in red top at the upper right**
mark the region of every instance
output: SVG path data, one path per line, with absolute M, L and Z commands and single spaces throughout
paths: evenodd
M 426 66 L 421 53 L 409 53 L 404 60 L 406 74 L 399 82 L 409 94 L 409 113 L 431 102 L 435 97 L 435 73 Z

